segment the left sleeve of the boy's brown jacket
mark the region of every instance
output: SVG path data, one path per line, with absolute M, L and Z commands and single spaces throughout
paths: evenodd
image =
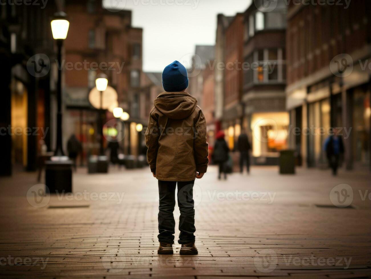
M 150 112 L 148 127 L 145 131 L 145 145 L 148 147 L 147 160 L 150 164 L 151 172 L 156 173 L 156 159 L 158 151 L 158 138 L 160 137 L 158 120 L 153 115 L 154 108 Z

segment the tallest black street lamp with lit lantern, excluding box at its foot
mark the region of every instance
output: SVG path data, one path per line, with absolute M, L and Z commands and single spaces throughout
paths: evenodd
M 58 46 L 58 64 L 62 63 L 62 46 L 63 40 L 66 39 L 69 27 L 69 21 L 66 19 L 66 13 L 59 11 L 54 14 L 54 19 L 50 22 L 52 27 L 53 39 L 56 40 Z M 54 156 L 64 156 L 62 148 L 62 67 L 58 69 L 57 83 L 57 146 Z

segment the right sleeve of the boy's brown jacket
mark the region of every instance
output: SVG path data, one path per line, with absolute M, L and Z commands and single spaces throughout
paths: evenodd
M 195 123 L 195 139 L 193 146 L 196 171 L 205 173 L 207 170 L 207 164 L 209 163 L 209 158 L 207 158 L 209 155 L 209 143 L 206 141 L 206 119 L 201 110 Z

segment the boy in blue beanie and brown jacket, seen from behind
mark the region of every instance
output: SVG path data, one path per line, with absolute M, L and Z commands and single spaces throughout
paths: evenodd
M 209 159 L 206 120 L 196 98 L 185 92 L 188 75 L 178 61 L 162 72 L 165 92 L 154 100 L 150 112 L 145 144 L 151 172 L 158 179 L 159 254 L 173 254 L 175 220 L 175 186 L 178 184 L 180 255 L 197 255 L 194 245 L 195 178 L 202 178 Z

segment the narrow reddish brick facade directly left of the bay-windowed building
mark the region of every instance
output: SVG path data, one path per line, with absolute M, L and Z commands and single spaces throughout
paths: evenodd
M 243 86 L 243 14 L 238 13 L 230 20 L 224 34 L 224 91 L 223 120 L 221 125 L 226 129 L 228 145 L 234 149 L 241 131 L 243 110 L 241 103 Z

